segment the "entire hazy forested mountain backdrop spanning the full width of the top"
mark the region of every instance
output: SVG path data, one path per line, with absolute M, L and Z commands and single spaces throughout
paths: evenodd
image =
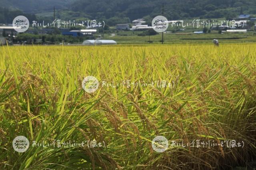
M 129 23 L 137 18 L 145 18 L 149 24 L 154 16 L 162 15 L 163 6 L 168 20 L 232 19 L 239 14 L 256 14 L 256 0 L 0 0 L 0 22 L 10 22 L 12 16 L 18 14 L 15 10 L 40 14 L 36 16 L 52 20 L 50 12 L 54 6 L 58 18 L 104 20 L 109 26 Z M 12 11 L 4 12 L 4 8 Z

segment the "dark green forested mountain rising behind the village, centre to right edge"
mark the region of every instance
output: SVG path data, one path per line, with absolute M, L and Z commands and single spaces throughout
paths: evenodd
M 190 17 L 232 18 L 256 14 L 256 0 L 76 0 L 72 10 L 93 17 L 128 17 L 131 20 L 162 13 L 170 20 Z

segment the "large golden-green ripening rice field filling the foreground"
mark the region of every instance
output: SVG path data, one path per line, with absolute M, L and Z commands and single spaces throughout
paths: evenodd
M 255 161 L 254 43 L 0 51 L 0 169 L 204 170 Z M 82 85 L 87 76 L 98 80 L 93 93 Z M 14 150 L 16 136 L 28 139 L 25 152 Z M 164 152 L 153 148 L 156 136 L 168 140 L 156 145 Z

